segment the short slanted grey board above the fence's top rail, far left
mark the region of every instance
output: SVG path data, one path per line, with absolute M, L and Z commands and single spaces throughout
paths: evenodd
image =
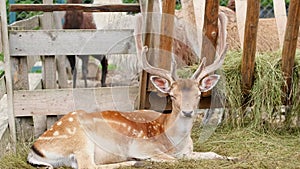
M 30 17 L 28 19 L 23 19 L 16 21 L 9 25 L 9 27 L 21 27 L 23 30 L 32 30 L 40 27 L 40 15 Z

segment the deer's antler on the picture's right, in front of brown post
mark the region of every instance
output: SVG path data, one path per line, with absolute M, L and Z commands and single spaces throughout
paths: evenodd
M 193 74 L 191 79 L 195 79 L 197 81 L 200 81 L 203 77 L 205 77 L 207 74 L 219 69 L 223 62 L 227 51 L 227 43 L 226 43 L 226 37 L 227 37 L 227 31 L 226 31 L 226 25 L 227 25 L 227 18 L 224 13 L 219 13 L 219 46 L 217 48 L 217 56 L 215 61 L 209 65 L 205 66 L 206 58 L 204 57 L 196 70 L 196 72 Z

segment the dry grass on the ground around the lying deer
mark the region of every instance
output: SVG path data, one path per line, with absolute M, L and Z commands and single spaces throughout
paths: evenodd
M 239 157 L 240 161 L 181 160 L 177 163 L 145 163 L 141 168 L 300 168 L 300 131 L 262 133 L 253 129 L 219 127 L 205 143 L 196 142 L 200 127 L 193 130 L 195 151 Z M 1 169 L 33 168 L 26 163 L 29 145 L 22 144 L 17 154 L 7 154 L 0 160 Z M 127 167 L 133 168 L 133 167 Z

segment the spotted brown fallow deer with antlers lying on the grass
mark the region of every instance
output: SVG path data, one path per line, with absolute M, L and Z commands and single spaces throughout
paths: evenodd
M 148 48 L 142 47 L 141 35 L 136 35 L 143 68 L 157 75 L 150 78 L 155 88 L 170 95 L 171 113 L 152 110 L 71 112 L 34 142 L 28 162 L 49 168 L 114 168 L 134 165 L 139 160 L 234 159 L 214 152 L 194 152 L 191 139 L 201 93 L 211 90 L 218 82 L 220 76 L 211 73 L 221 67 L 227 49 L 226 17 L 220 14 L 219 19 L 218 55 L 209 66 L 202 59 L 190 79 L 177 78 L 174 62 L 171 71 L 151 66 L 146 59 Z

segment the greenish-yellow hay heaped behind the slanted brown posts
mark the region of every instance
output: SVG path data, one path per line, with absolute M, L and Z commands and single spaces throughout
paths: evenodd
M 255 75 L 252 90 L 243 110 L 241 91 L 241 60 L 240 51 L 228 51 L 221 72 L 225 76 L 225 87 L 221 90 L 226 97 L 229 108 L 228 124 L 233 127 L 250 126 L 258 129 L 276 130 L 278 127 L 291 127 L 292 121 L 300 116 L 300 52 L 295 58 L 292 97 L 294 104 L 282 124 L 274 123 L 282 118 L 282 92 L 284 77 L 281 71 L 281 52 L 257 53 L 255 58 Z M 180 77 L 190 77 L 198 66 L 186 67 L 178 71 Z

